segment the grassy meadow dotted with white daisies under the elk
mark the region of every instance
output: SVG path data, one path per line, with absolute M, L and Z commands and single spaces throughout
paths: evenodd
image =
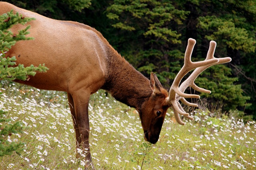
M 82 170 L 76 159 L 75 133 L 64 92 L 20 84 L 2 85 L 0 109 L 22 122 L 24 133 L 8 141 L 25 143 L 21 154 L 0 157 L 0 169 Z M 93 94 L 89 106 L 90 148 L 97 170 L 256 169 L 256 122 L 235 115 L 213 117 L 194 111 L 182 126 L 172 110 L 166 115 L 158 143 L 144 141 L 136 110 L 107 95 Z M 78 153 L 82 155 L 81 150 Z

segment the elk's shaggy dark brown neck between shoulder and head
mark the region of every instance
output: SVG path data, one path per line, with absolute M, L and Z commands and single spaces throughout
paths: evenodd
M 118 101 L 140 111 L 152 94 L 150 80 L 132 67 L 115 50 L 108 53 L 108 75 L 102 89 Z

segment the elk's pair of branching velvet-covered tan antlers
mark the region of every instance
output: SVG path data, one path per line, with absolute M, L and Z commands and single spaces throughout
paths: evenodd
M 206 59 L 204 61 L 192 62 L 191 54 L 192 54 L 195 44 L 196 44 L 196 40 L 194 40 L 192 38 L 188 39 L 188 46 L 187 46 L 187 49 L 185 52 L 185 58 L 184 58 L 184 66 L 181 68 L 181 70 L 178 72 L 176 78 L 174 79 L 174 82 L 169 91 L 169 97 L 167 98 L 167 102 L 171 105 L 171 107 L 174 111 L 174 116 L 175 116 L 176 121 L 181 125 L 185 125 L 185 123 L 180 119 L 179 114 L 184 115 L 185 117 L 187 117 L 190 120 L 193 120 L 193 117 L 191 117 L 188 113 L 186 113 L 184 111 L 184 109 L 181 107 L 181 105 L 178 101 L 180 100 L 182 103 L 184 103 L 188 106 L 197 107 L 197 104 L 187 102 L 184 98 L 200 98 L 200 96 L 195 95 L 195 94 L 185 94 L 184 91 L 186 90 L 186 88 L 190 86 L 190 87 L 194 88 L 194 90 L 197 90 L 199 92 L 211 93 L 210 90 L 206 90 L 206 89 L 196 86 L 196 84 L 194 83 L 194 80 L 197 78 L 197 76 L 201 72 L 206 70 L 206 68 L 208 68 L 212 65 L 215 65 L 215 64 L 228 63 L 231 61 L 230 57 L 216 59 L 214 57 L 216 42 L 211 41 Z M 182 78 L 189 71 L 191 71 L 193 69 L 195 69 L 194 72 L 192 72 L 192 74 L 180 85 L 180 87 L 178 87 Z

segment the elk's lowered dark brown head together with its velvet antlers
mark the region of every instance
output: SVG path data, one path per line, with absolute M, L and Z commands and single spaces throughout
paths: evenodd
M 216 42 L 211 41 L 206 59 L 204 61 L 192 62 L 191 55 L 195 44 L 196 40 L 191 38 L 188 39 L 188 46 L 184 57 L 184 66 L 181 68 L 176 78 L 174 79 L 174 82 L 169 90 L 169 94 L 167 90 L 162 88 L 162 85 L 156 77 L 156 74 L 151 73 L 150 75 L 150 87 L 152 89 L 152 94 L 149 100 L 144 102 L 141 109 L 141 113 L 150 113 L 150 115 L 140 114 L 142 128 L 144 130 L 144 139 L 150 143 L 154 144 L 158 141 L 162 124 L 164 122 L 164 117 L 169 107 L 172 107 L 175 119 L 180 125 L 185 125 L 185 123 L 180 119 L 180 115 L 193 120 L 193 117 L 184 111 L 181 104 L 179 103 L 179 100 L 188 106 L 197 107 L 197 104 L 187 102 L 184 98 L 200 98 L 200 96 L 195 94 L 185 94 L 184 91 L 190 86 L 199 92 L 211 93 L 209 90 L 205 90 L 196 86 L 194 80 L 206 68 L 215 64 L 223 64 L 231 61 L 230 57 L 218 59 L 215 58 L 214 51 L 216 48 Z M 191 70 L 194 71 L 180 85 L 182 78 Z M 152 108 L 150 106 L 154 107 Z

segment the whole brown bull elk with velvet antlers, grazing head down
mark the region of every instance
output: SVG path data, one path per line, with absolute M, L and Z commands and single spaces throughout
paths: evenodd
M 215 58 L 216 43 L 211 41 L 206 59 L 192 62 L 191 54 L 196 41 L 188 39 L 184 66 L 168 92 L 156 74 L 151 73 L 148 80 L 122 58 L 96 29 L 73 21 L 53 20 L 7 2 L 0 2 L 1 15 L 10 10 L 36 20 L 29 23 L 30 36 L 34 40 L 17 42 L 6 56 L 16 56 L 16 63 L 24 66 L 44 63 L 49 68 L 46 73 L 37 73 L 28 81 L 16 82 L 44 90 L 67 92 L 76 132 L 76 147 L 84 149 L 87 165 L 91 164 L 88 117 L 91 94 L 104 89 L 116 100 L 134 107 L 139 113 L 144 139 L 155 144 L 169 107 L 172 107 L 176 121 L 181 125 L 184 122 L 179 114 L 193 120 L 179 103 L 181 100 L 188 106 L 197 106 L 184 99 L 200 98 L 198 95 L 185 94 L 188 86 L 199 92 L 210 93 L 194 84 L 196 77 L 214 64 L 231 61 L 229 57 Z M 15 33 L 22 27 L 14 25 L 11 31 Z M 179 86 L 181 79 L 193 69 L 194 72 Z

